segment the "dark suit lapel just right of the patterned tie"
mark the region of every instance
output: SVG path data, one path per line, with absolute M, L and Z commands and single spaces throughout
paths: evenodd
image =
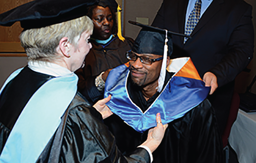
M 213 0 L 210 6 L 207 8 L 207 10 L 204 12 L 202 17 L 200 18 L 196 28 L 192 32 L 191 36 L 196 34 L 209 20 L 212 19 L 212 17 L 221 10 L 221 3 L 223 3 L 224 0 Z

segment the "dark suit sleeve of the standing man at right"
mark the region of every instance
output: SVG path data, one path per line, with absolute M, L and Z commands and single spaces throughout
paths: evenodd
M 209 70 L 217 77 L 219 87 L 234 80 L 250 63 L 253 58 L 253 48 L 252 6 L 248 6 L 230 36 L 227 44 L 227 54 L 222 58 L 221 62 Z

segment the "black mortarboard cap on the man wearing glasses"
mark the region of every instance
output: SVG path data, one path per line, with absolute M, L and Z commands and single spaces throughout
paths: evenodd
M 133 52 L 138 54 L 163 55 L 163 50 L 164 50 L 163 47 L 165 46 L 165 39 L 166 39 L 166 30 L 156 28 L 153 26 L 140 24 L 138 22 L 133 22 L 133 21 L 128 21 L 128 22 L 142 27 L 142 30 L 140 31 L 139 35 L 137 36 L 133 44 L 133 47 L 132 47 Z M 167 38 L 168 38 L 167 56 L 171 56 L 173 51 L 172 35 L 187 37 L 184 34 L 167 31 Z

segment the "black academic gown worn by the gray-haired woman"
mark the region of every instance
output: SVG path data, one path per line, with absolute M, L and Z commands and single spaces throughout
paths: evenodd
M 0 153 L 28 100 L 51 78 L 25 67 L 5 86 L 0 95 Z M 37 162 L 150 162 L 150 155 L 137 148 L 123 156 L 101 114 L 76 93 Z

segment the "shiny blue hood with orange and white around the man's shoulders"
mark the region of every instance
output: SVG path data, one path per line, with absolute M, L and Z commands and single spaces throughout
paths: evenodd
M 190 58 L 183 58 L 180 65 L 182 67 L 175 70 L 176 73 L 144 113 L 131 101 L 127 91 L 129 64 L 116 67 L 110 71 L 105 83 L 104 96 L 112 96 L 106 105 L 138 132 L 155 127 L 158 112 L 162 124 L 182 117 L 207 97 L 210 87 L 204 86 Z

